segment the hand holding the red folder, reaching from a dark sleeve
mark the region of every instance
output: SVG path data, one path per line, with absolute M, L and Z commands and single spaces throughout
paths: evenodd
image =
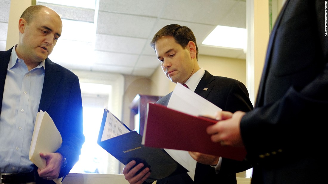
M 212 135 L 211 140 L 221 142 L 221 145 L 244 147 L 240 135 L 240 120 L 244 114 L 242 111 L 236 111 L 234 114 L 227 111 L 217 112 L 219 122 L 206 129 L 207 133 Z

